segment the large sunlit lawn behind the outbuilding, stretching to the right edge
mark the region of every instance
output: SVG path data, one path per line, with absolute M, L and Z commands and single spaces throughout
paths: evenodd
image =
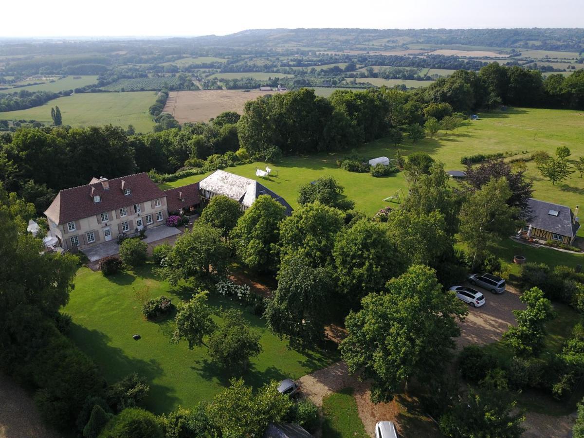
M 572 157 L 584 155 L 584 113 L 571 110 L 544 109 L 509 109 L 506 112 L 481 113 L 477 121 L 468 121 L 466 126 L 456 133 L 441 132 L 434 138 L 425 138 L 417 143 L 405 140 L 404 144 L 395 147 L 383 138 L 365 144 L 357 151 L 367 158 L 385 155 L 395 157 L 397 148 L 405 155 L 415 151 L 423 151 L 432 155 L 437 161 L 444 163 L 446 170 L 464 169 L 460 158 L 464 155 L 481 153 L 510 152 L 516 153 L 512 158 L 529 157 L 537 150 L 545 150 L 550 154 L 560 145 L 568 146 Z M 522 154 L 522 151 L 525 154 Z M 260 179 L 280 196 L 283 196 L 293 207 L 297 207 L 296 197 L 298 187 L 311 182 L 319 176 L 330 175 L 345 187 L 345 194 L 355 201 L 360 210 L 374 214 L 378 209 L 389 204 L 384 198 L 393 195 L 401 189 L 407 193 L 407 185 L 403 173 L 387 178 L 373 178 L 369 173 L 354 173 L 336 166 L 336 159 L 343 157 L 345 152 L 329 152 L 301 157 L 284 157 L 276 166 L 269 179 Z M 256 178 L 256 168 L 265 168 L 266 163 L 255 162 L 227 169 L 232 173 Z M 528 163 L 527 176 L 534 180 L 534 197 L 537 199 L 557 202 L 574 208 L 584 205 L 584 179 L 576 174 L 565 183 L 552 186 L 541 177 L 533 162 Z M 277 171 L 277 172 L 276 172 Z M 278 176 L 276 176 L 276 173 Z M 208 174 L 206 174 L 208 175 Z M 197 182 L 206 175 L 194 175 L 165 185 L 165 188 L 179 187 Z M 552 251 L 551 258 L 564 253 Z

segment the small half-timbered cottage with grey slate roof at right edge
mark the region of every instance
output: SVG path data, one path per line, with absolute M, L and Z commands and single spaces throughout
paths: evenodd
M 576 217 L 578 206 L 572 212 L 570 207 L 531 198 L 529 208 L 533 220 L 523 227 L 523 234 L 529 234 L 529 237 L 535 239 L 554 240 L 566 245 L 573 244 L 580 228 L 578 217 Z

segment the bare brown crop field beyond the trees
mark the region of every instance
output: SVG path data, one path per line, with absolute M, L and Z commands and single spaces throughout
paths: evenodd
M 245 102 L 277 91 L 201 90 L 172 91 L 164 107 L 179 123 L 187 121 L 209 121 L 225 111 L 241 114 Z

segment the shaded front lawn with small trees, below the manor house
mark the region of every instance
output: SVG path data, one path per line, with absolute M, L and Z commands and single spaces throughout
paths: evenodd
M 211 399 L 228 384 L 230 374 L 208 360 L 204 347 L 189 350 L 186 342 L 171 343 L 173 315 L 161 322 L 145 320 L 141 294 L 148 298 L 164 294 L 178 304 L 190 297 L 190 290 L 159 281 L 152 274 L 151 263 L 112 277 L 82 267 L 64 308 L 73 318 L 71 338 L 95 360 L 109 383 L 134 372 L 146 377 L 150 384 L 146 405 L 155 413 Z M 210 297 L 210 304 L 239 308 L 239 303 L 217 296 Z M 261 333 L 263 347 L 243 376 L 248 384 L 258 387 L 270 380 L 298 378 L 338 360 L 336 353 L 324 356 L 290 350 L 286 342 L 269 332 L 262 319 L 245 310 L 244 314 L 252 328 Z M 221 322 L 219 317 L 216 320 Z M 132 338 L 136 333 L 141 335 L 138 341 Z

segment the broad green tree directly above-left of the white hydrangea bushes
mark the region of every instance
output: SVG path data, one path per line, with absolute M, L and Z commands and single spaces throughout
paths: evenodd
M 197 221 L 185 231 L 164 266 L 157 273 L 175 285 L 180 280 L 204 280 L 211 275 L 223 276 L 227 270 L 230 249 L 223 241 L 221 230 Z

